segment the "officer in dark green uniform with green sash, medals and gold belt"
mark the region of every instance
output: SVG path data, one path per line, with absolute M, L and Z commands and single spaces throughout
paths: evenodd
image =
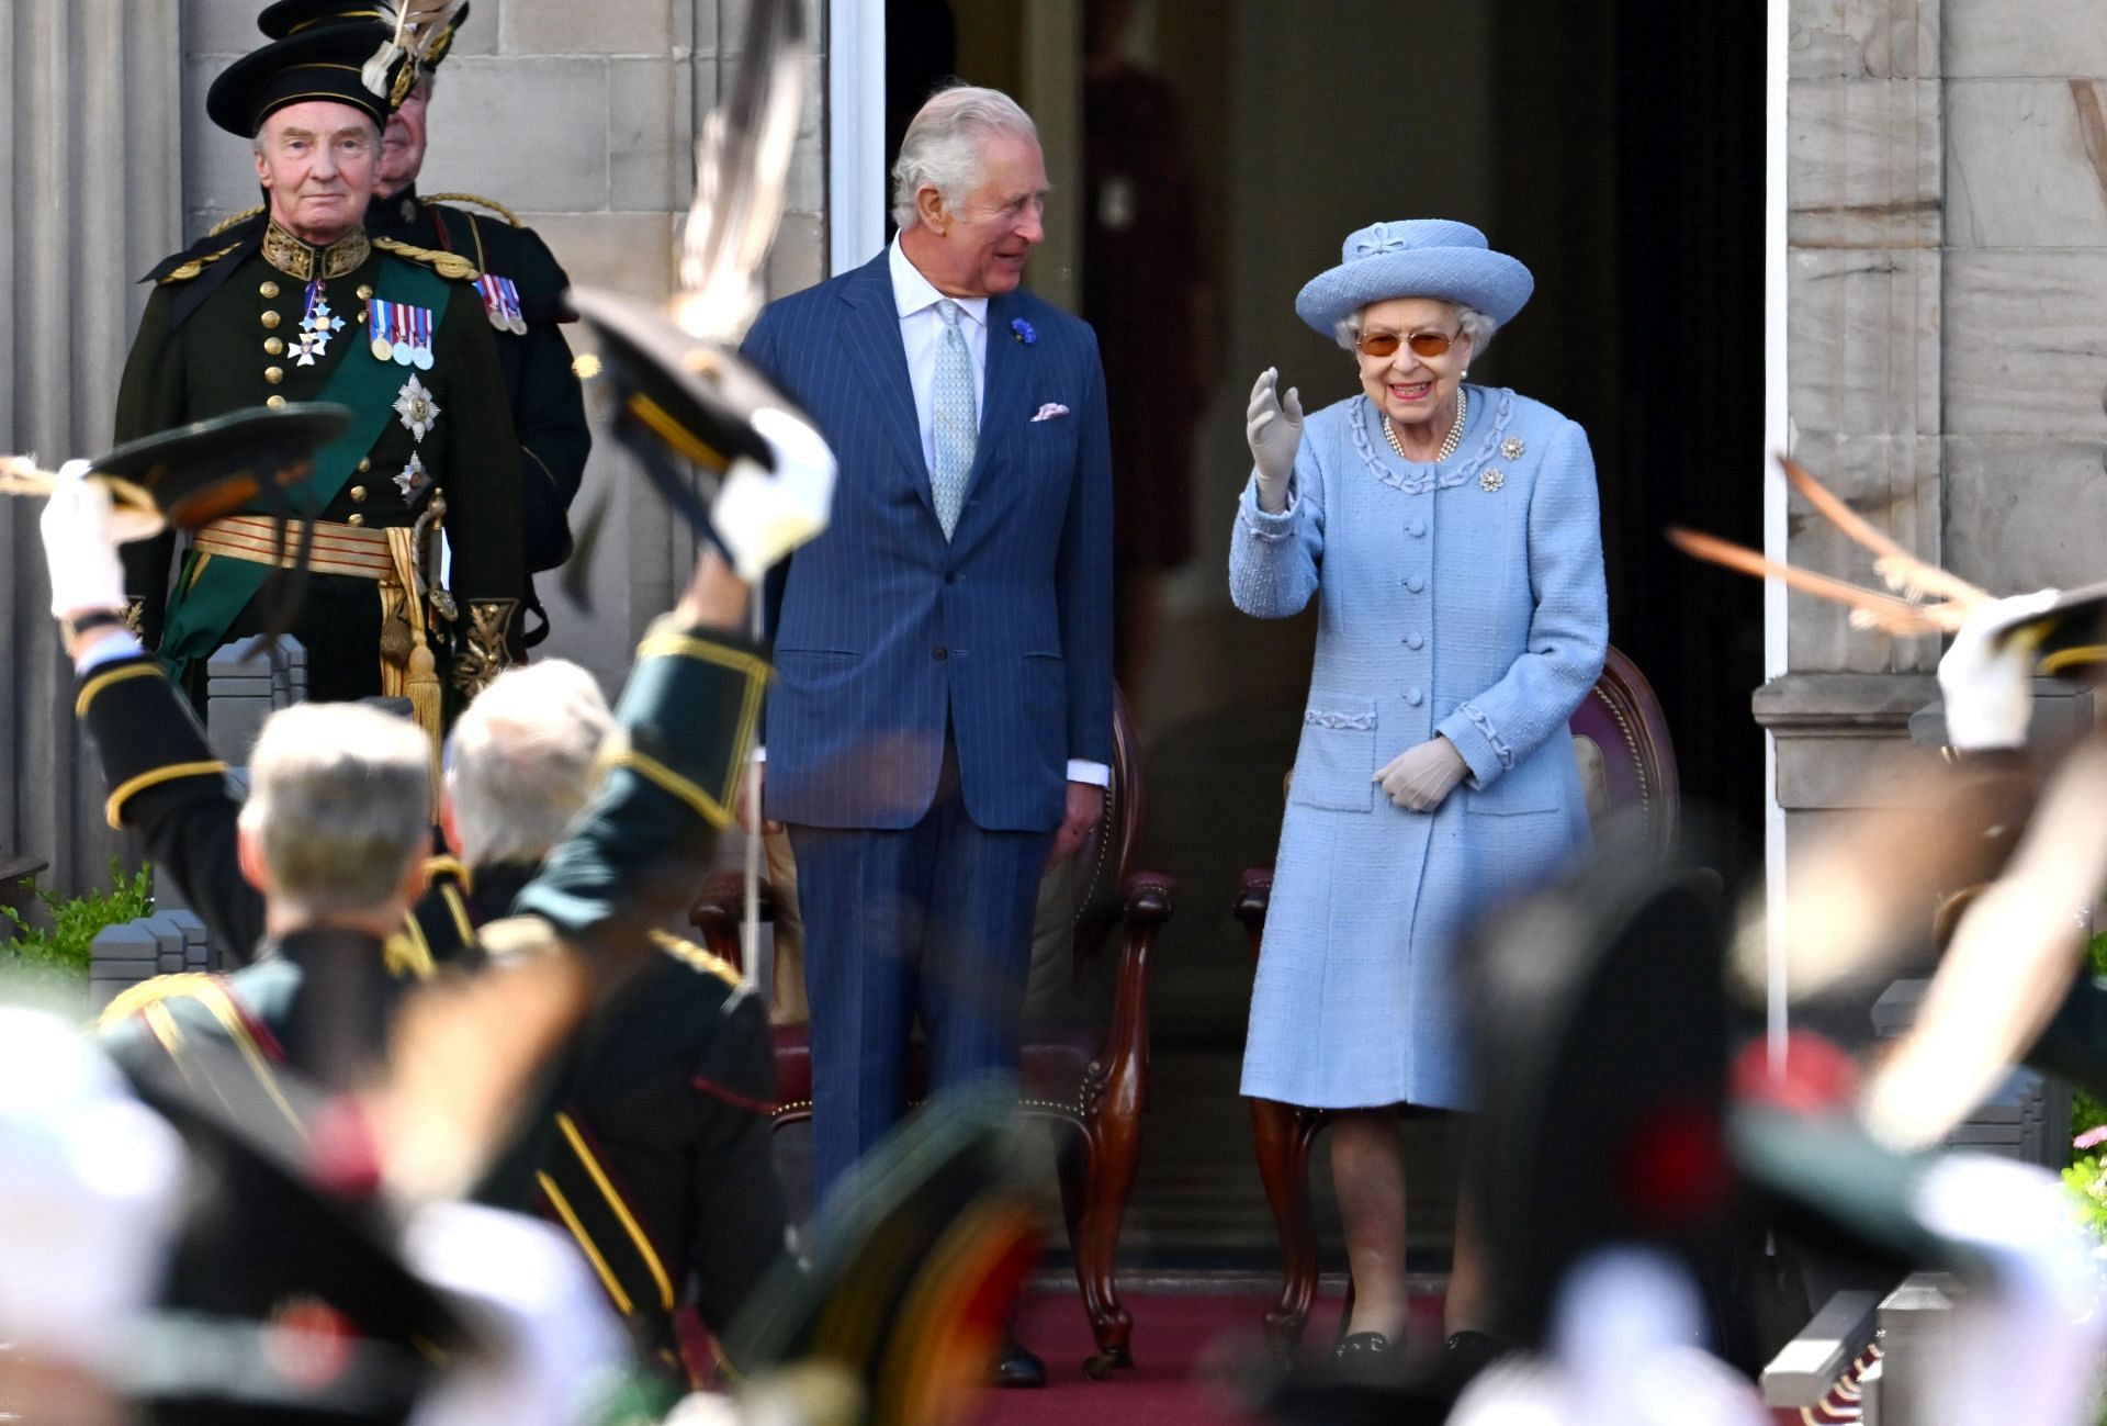
M 396 61 L 388 93 L 373 93 L 360 70 L 375 48 L 369 32 L 322 27 L 213 82 L 206 112 L 253 139 L 268 217 L 150 274 L 118 392 L 120 440 L 291 400 L 350 407 L 352 425 L 299 484 L 198 531 L 173 592 L 166 535 L 126 554 L 126 579 L 147 642 L 196 695 L 221 642 L 270 623 L 272 600 L 257 596 L 306 546 L 312 575 L 291 632 L 308 647 L 310 697 L 409 695 L 436 733 L 440 670 L 428 655 L 451 642 L 459 693 L 508 661 L 525 577 L 520 457 L 472 286 L 480 272 L 362 227 L 381 126 L 413 78 Z M 301 516 L 287 537 L 274 503 Z M 451 590 L 432 588 L 428 605 L 440 512 Z

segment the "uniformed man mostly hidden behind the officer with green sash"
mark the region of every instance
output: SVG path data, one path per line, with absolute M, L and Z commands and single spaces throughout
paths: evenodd
M 520 444 L 520 552 L 531 575 L 571 558 L 567 510 L 586 476 L 592 432 L 586 425 L 586 398 L 577 373 L 571 371 L 571 345 L 558 326 L 577 320 L 577 314 L 565 301 L 571 278 L 565 276 L 556 255 L 533 227 L 523 225 L 510 209 L 491 198 L 417 194 L 438 67 L 468 23 L 468 11 L 464 4 L 442 21 L 445 32 L 417 63 L 417 78 L 402 95 L 402 103 L 388 116 L 388 126 L 381 131 L 379 185 L 367 206 L 367 234 L 453 253 L 474 263 L 480 274 L 474 280 L 476 295 L 497 333 L 497 360 L 506 373 L 512 430 Z M 383 27 L 375 23 L 375 15 L 373 0 L 278 0 L 257 17 L 257 25 L 272 40 L 343 23 L 377 34 Z M 459 204 L 489 209 L 497 219 Z M 523 638 L 533 647 L 548 634 L 548 621 L 531 579 L 523 592 L 527 609 L 541 619 L 539 628 Z

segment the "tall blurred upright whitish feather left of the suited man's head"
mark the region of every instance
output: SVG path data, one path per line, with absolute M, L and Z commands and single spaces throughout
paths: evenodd
M 683 291 L 672 314 L 691 337 L 737 341 L 761 310 L 761 261 L 782 217 L 803 99 L 803 6 L 759 0 L 731 99 L 695 143 L 695 202 L 681 234 Z

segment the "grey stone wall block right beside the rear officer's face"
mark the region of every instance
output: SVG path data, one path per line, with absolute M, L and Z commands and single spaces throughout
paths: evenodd
M 594 213 L 607 209 L 607 131 L 605 59 L 459 59 L 432 101 L 417 187 L 489 194 L 514 211 Z

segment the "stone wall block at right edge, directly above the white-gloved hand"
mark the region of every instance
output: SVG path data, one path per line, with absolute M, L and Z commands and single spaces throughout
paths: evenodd
M 2107 579 L 2107 430 L 2099 440 L 1949 436 L 1947 569 L 1993 594 Z

